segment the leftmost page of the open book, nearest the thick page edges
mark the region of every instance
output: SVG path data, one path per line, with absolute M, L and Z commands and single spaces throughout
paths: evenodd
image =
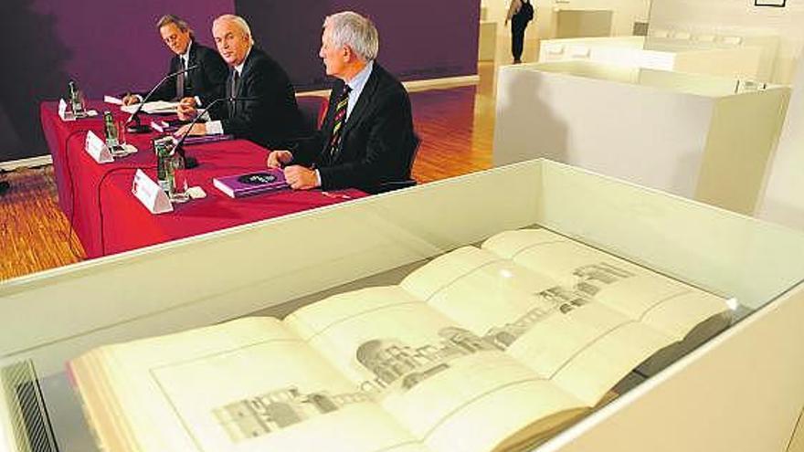
M 130 424 L 128 450 L 428 450 L 275 319 L 97 352 Z

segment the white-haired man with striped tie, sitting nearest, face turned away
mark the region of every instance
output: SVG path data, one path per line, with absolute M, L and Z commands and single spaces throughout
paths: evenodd
M 270 152 L 294 189 L 357 187 L 368 192 L 407 180 L 418 146 L 410 100 L 401 83 L 376 63 L 379 37 L 367 18 L 347 11 L 324 20 L 322 47 L 335 82 L 322 130 L 292 151 Z

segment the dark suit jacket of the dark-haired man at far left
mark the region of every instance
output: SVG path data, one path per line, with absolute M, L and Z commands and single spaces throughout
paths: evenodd
M 196 41 L 190 45 L 187 67 L 198 65 L 185 74 L 185 96 L 198 96 L 202 103 L 208 103 L 224 95 L 228 68 L 226 61 L 220 58 L 217 50 L 204 47 Z M 168 74 L 182 69 L 181 57 L 174 55 L 170 60 Z M 143 96 L 145 93 L 142 94 Z M 153 91 L 152 100 L 175 100 L 176 78 L 167 79 L 164 85 Z

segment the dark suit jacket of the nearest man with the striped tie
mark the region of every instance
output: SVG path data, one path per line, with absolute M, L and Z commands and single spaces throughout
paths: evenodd
M 341 145 L 330 155 L 335 105 L 344 86 L 342 80 L 335 82 L 321 131 L 298 143 L 294 163 L 315 164 L 324 190 L 356 187 L 374 192 L 378 184 L 409 178 L 418 146 L 410 100 L 402 84 L 376 62 L 344 124 Z

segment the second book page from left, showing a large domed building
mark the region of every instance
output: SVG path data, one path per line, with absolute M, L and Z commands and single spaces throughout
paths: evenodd
M 583 409 L 488 338 L 398 286 L 335 295 L 285 322 L 433 450 L 503 447 Z

